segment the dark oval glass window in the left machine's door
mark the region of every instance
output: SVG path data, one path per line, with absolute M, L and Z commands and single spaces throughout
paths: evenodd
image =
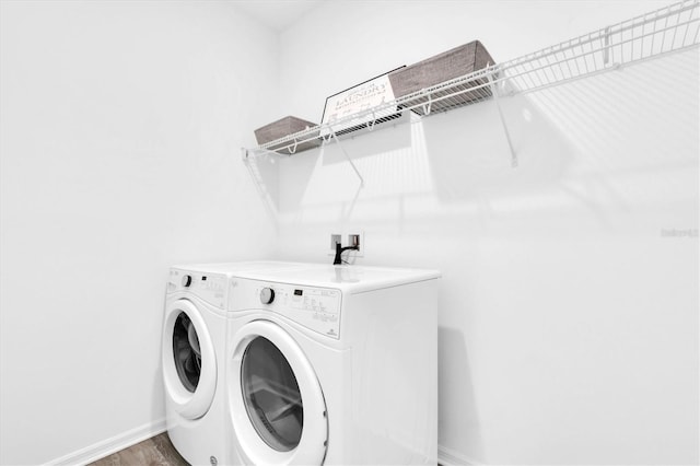
M 195 393 L 201 374 L 201 350 L 195 324 L 184 312 L 179 313 L 173 328 L 173 357 L 183 386 Z

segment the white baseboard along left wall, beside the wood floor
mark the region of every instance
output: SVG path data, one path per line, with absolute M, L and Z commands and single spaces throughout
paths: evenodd
M 94 443 L 77 452 L 69 453 L 66 456 L 46 463 L 45 466 L 85 465 L 163 432 L 165 432 L 165 418 Z

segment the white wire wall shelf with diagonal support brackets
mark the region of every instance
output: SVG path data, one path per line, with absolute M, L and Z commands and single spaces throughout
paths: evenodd
M 499 98 L 538 91 L 626 65 L 698 47 L 700 44 L 700 0 L 686 0 L 640 16 L 562 42 L 469 74 L 422 89 L 380 106 L 350 115 L 332 124 L 318 125 L 253 149 L 243 149 L 247 162 L 258 155 L 289 156 L 304 142 L 335 141 L 363 183 L 352 159 L 338 136 L 350 131 L 371 131 L 392 121 L 397 113 L 421 116 L 492 101 L 499 109 L 511 148 L 512 165 L 517 159 L 511 143 Z M 342 129 L 338 129 L 342 128 Z M 308 145 L 308 144 L 306 144 Z

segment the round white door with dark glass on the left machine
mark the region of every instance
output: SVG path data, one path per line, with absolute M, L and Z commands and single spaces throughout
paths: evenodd
M 166 305 L 162 353 L 165 396 L 183 417 L 202 417 L 217 388 L 217 358 L 205 319 L 190 301 Z

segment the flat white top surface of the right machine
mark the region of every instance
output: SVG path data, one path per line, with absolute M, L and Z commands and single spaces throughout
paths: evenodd
M 305 264 L 301 267 L 248 269 L 240 278 L 359 293 L 440 278 L 438 270 Z

